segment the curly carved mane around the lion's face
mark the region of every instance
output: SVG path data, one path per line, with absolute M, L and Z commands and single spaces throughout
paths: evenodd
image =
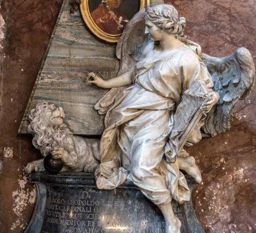
M 73 134 L 68 129 L 68 126 L 63 123 L 56 127 L 47 127 L 42 121 L 41 115 L 49 107 L 48 102 L 38 103 L 35 109 L 32 109 L 29 115 L 30 124 L 28 132 L 34 138 L 32 140 L 35 148 L 41 151 L 41 154 L 46 157 L 56 146 L 60 146 L 60 142 L 67 143 L 72 140 Z

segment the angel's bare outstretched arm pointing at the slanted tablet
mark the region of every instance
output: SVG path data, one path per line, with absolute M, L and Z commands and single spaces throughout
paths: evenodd
M 93 80 L 87 80 L 88 83 L 94 83 L 98 87 L 102 88 L 114 88 L 114 87 L 124 87 L 127 85 L 131 85 L 133 83 L 132 77 L 133 77 L 133 70 L 129 70 L 120 76 L 114 77 L 114 79 L 111 80 L 102 80 L 99 76 L 97 76 L 95 73 L 89 73 L 88 79 L 92 77 Z

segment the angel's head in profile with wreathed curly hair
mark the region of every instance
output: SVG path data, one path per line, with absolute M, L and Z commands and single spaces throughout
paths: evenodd
M 165 32 L 175 35 L 183 43 L 187 42 L 186 36 L 184 36 L 186 20 L 184 17 L 178 17 L 178 12 L 172 5 L 147 6 L 145 23 L 145 33 L 150 33 L 155 41 L 158 40 L 159 33 Z

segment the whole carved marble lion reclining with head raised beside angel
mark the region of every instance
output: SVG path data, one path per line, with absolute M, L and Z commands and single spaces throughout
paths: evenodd
M 61 159 L 65 164 L 61 171 L 94 172 L 99 164 L 99 141 L 74 136 L 63 123 L 64 118 L 62 108 L 48 102 L 38 103 L 29 115 L 28 131 L 34 136 L 33 145 L 42 156 L 51 153 L 54 159 Z M 25 167 L 27 173 L 44 170 L 44 159 Z

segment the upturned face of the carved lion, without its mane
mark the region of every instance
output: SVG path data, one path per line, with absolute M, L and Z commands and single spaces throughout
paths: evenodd
M 65 114 L 61 107 L 56 108 L 55 105 L 49 105 L 41 113 L 41 122 L 46 127 L 58 127 L 63 124 Z

